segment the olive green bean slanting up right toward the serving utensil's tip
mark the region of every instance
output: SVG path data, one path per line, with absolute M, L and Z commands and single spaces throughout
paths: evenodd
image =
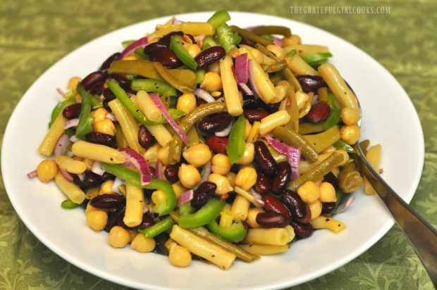
M 300 177 L 297 177 L 291 182 L 288 182 L 287 189 L 296 191 L 302 184 L 307 181 L 316 181 L 318 179 L 321 179 L 342 162 L 343 154 L 334 151 L 330 156 L 328 156 L 328 158 L 319 163 L 319 165 L 316 165 L 311 170 L 304 172 L 304 174 L 300 175 Z

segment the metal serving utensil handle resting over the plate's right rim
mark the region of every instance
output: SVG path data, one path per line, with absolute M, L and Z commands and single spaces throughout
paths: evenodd
M 437 232 L 423 217 L 412 209 L 371 167 L 360 146 L 354 146 L 355 161 L 372 187 L 386 204 L 400 229 L 410 241 L 417 256 L 424 264 L 434 285 L 437 285 Z

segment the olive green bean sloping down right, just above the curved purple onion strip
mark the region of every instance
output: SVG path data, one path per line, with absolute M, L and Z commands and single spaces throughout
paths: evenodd
M 280 126 L 273 131 L 273 137 L 281 139 L 285 144 L 300 148 L 302 156 L 310 163 L 316 162 L 319 158 L 311 144 L 295 130 Z

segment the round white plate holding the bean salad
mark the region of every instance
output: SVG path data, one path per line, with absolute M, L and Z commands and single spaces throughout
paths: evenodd
M 177 15 L 180 20 L 205 21 L 211 13 Z M 419 118 L 395 78 L 356 46 L 316 27 L 285 18 L 254 13 L 231 13 L 240 27 L 285 25 L 306 44 L 322 44 L 333 53 L 331 62 L 355 90 L 362 105 L 362 139 L 383 146 L 383 178 L 407 202 L 419 183 L 424 141 Z M 16 107 L 4 134 L 1 167 L 8 196 L 21 220 L 35 236 L 68 262 L 113 282 L 142 289 L 277 289 L 326 274 L 359 256 L 392 227 L 393 218 L 378 196 L 361 190 L 346 213 L 340 234 L 318 230 L 291 244 L 287 253 L 265 256 L 254 263 L 237 261 L 228 271 L 195 261 L 187 268 L 172 267 L 168 258 L 111 248 L 106 232 L 87 227 L 83 210 L 63 210 L 66 197 L 56 185 L 28 179 L 42 157 L 39 142 L 47 132 L 51 109 L 59 101 L 56 87 L 66 87 L 74 75 L 85 77 L 121 42 L 152 32 L 170 17 L 148 20 L 116 30 L 76 49 L 32 84 Z

